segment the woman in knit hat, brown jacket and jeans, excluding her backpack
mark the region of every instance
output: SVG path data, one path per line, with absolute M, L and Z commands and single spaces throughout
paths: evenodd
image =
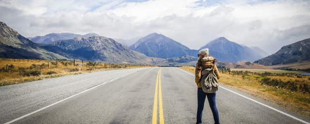
M 204 93 L 202 91 L 202 84 L 200 83 L 201 81 L 201 71 L 202 67 L 204 68 L 213 68 L 214 73 L 217 76 L 217 79 L 219 79 L 220 75 L 217 70 L 217 66 L 215 65 L 216 59 L 213 57 L 209 56 L 209 49 L 205 48 L 199 51 L 198 53 L 198 63 L 196 64 L 196 69 L 195 69 L 195 82 L 198 87 L 198 93 L 197 93 L 197 98 L 198 98 L 198 108 L 197 108 L 197 122 L 196 124 L 201 124 L 202 123 L 202 110 L 204 106 L 204 101 L 205 97 L 207 96 L 207 99 L 209 101 L 210 108 L 213 113 L 213 118 L 215 121 L 215 124 L 219 124 L 219 118 L 218 118 L 218 112 L 217 112 L 217 106 L 216 106 L 216 93 Z

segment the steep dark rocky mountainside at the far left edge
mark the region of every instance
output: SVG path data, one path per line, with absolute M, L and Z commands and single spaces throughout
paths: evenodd
M 0 58 L 12 59 L 67 59 L 49 52 L 0 22 Z

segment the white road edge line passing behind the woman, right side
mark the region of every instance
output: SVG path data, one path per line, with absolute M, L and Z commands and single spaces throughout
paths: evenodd
M 177 69 L 180 69 L 180 68 L 177 68 Z M 182 69 L 180 69 L 180 70 L 182 70 Z M 182 70 L 182 71 L 184 71 L 184 70 Z M 186 71 L 184 71 L 184 72 L 186 72 Z M 190 73 L 188 73 L 188 72 L 186 72 L 186 73 L 189 74 L 189 75 L 195 76 L 195 75 L 190 74 Z M 221 87 L 221 86 L 220 86 L 220 87 Z M 221 87 L 221 88 L 223 88 L 223 87 Z M 249 100 L 251 100 L 251 101 L 253 101 L 253 102 L 256 102 L 256 103 L 258 103 L 258 104 L 261 104 L 261 105 L 263 105 L 263 106 L 265 106 L 265 107 L 267 107 L 267 108 L 269 108 L 269 109 L 273 109 L 273 110 L 275 110 L 275 111 L 278 111 L 279 113 L 282 113 L 282 114 L 284 114 L 284 115 L 286 115 L 286 116 L 289 116 L 289 117 L 291 117 L 291 118 L 293 118 L 293 119 L 295 119 L 295 120 L 297 120 L 297 121 L 299 121 L 299 122 L 302 122 L 302 123 L 304 123 L 304 124 L 310 124 L 310 123 L 308 123 L 308 122 L 306 122 L 306 121 L 304 121 L 304 120 L 301 120 L 301 119 L 299 119 L 299 118 L 296 118 L 296 117 L 294 117 L 294 116 L 292 116 L 292 115 L 290 115 L 290 114 L 288 114 L 288 113 L 285 113 L 285 112 L 280 111 L 280 110 L 278 110 L 278 109 L 272 108 L 272 107 L 270 107 L 270 106 L 268 106 L 268 105 L 265 105 L 265 104 L 263 104 L 263 103 L 260 103 L 260 102 L 258 102 L 258 101 L 256 101 L 256 100 L 254 100 L 254 99 L 248 98 L 247 96 L 244 96 L 244 95 L 242 95 L 242 94 L 233 92 L 233 91 L 231 91 L 231 90 L 229 90 L 229 89 L 226 89 L 226 88 L 223 88 L 223 89 L 225 89 L 225 90 L 227 90 L 227 91 L 230 91 L 230 92 L 232 92 L 232 93 L 235 93 L 235 94 L 237 94 L 237 95 L 240 95 L 240 96 L 242 96 L 242 97 L 244 97 L 244 98 L 247 98 L 247 99 L 249 99 Z

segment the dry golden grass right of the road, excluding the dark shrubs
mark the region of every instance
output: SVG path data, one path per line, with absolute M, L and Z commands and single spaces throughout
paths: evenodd
M 195 67 L 180 67 L 180 69 L 195 73 Z M 261 98 L 270 103 L 276 104 L 283 108 L 295 111 L 310 117 L 310 93 L 291 92 L 287 89 L 261 85 L 258 81 L 261 77 L 257 75 L 247 76 L 245 80 L 239 75 L 229 75 L 227 72 L 222 74 L 219 81 L 241 92 L 248 93 L 252 96 Z M 310 80 L 308 76 L 302 78 L 296 77 L 279 77 L 270 76 L 269 78 L 278 78 L 281 80 L 304 80 L 308 85 Z

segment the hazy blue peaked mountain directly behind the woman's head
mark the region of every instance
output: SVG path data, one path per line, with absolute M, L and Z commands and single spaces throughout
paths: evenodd
M 217 58 L 218 61 L 223 62 L 254 62 L 255 60 L 263 58 L 258 51 L 229 41 L 225 37 L 219 37 L 200 49 L 203 48 L 209 48 L 210 55 Z

